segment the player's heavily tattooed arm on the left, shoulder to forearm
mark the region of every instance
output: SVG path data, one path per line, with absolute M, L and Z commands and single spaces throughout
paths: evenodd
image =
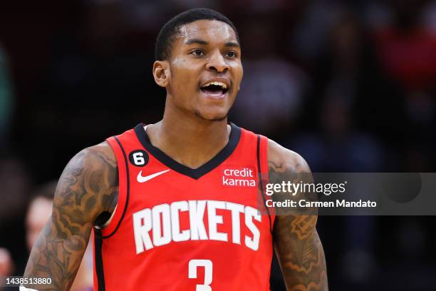
M 117 200 L 118 168 L 108 143 L 72 158 L 58 181 L 51 219 L 33 245 L 24 273 L 51 277 L 52 284 L 26 287 L 70 290 L 95 220 L 113 213 Z

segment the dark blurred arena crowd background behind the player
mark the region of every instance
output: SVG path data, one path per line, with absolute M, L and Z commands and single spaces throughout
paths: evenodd
M 435 171 L 436 1 L 2 1 L 0 247 L 14 274 L 28 257 L 32 193 L 82 148 L 160 119 L 155 37 L 198 6 L 227 15 L 241 37 L 230 121 L 314 172 Z M 435 290 L 434 221 L 320 217 L 330 290 Z M 271 281 L 284 290 L 276 267 Z

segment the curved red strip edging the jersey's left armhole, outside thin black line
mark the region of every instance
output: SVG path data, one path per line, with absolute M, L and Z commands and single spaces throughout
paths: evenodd
M 118 163 L 118 202 L 110 223 L 101 230 L 103 239 L 110 238 L 120 227 L 128 208 L 130 195 L 129 167 L 125 150 L 116 136 L 108 138 L 106 141 L 113 149 Z

